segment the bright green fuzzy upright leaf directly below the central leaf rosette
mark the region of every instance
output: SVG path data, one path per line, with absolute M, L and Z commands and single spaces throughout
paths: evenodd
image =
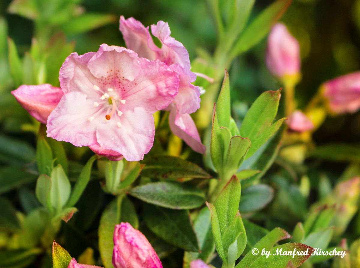
M 219 218 L 221 235 L 224 234 L 225 230 L 229 227 L 231 222 L 233 222 L 235 215 L 238 212 L 240 195 L 240 182 L 236 176 L 233 176 L 215 200 L 214 206 Z

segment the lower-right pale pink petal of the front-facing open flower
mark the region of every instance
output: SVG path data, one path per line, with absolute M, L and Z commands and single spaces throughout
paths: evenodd
M 143 107 L 125 110 L 120 119 L 99 124 L 96 131 L 101 147 L 122 154 L 127 161 L 143 159 L 153 146 L 154 135 L 154 117 Z

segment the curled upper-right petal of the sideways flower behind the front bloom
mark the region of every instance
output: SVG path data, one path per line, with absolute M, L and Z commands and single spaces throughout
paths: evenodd
M 151 32 L 162 43 L 161 53 L 157 53 L 157 59 L 165 62 L 168 66 L 180 63 L 190 69 L 189 53 L 179 41 L 170 37 L 170 27 L 167 22 L 159 21 L 151 26 Z

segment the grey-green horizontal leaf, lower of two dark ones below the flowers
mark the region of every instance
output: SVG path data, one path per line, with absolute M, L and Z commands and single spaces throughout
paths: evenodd
M 198 208 L 204 204 L 204 193 L 180 182 L 153 182 L 132 188 L 130 191 L 147 203 L 172 209 Z

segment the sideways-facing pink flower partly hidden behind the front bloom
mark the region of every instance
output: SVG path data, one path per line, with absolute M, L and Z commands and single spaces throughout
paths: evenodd
M 169 124 L 171 131 L 182 138 L 193 150 L 205 153 L 206 147 L 201 143 L 197 128 L 190 113 L 200 107 L 200 88 L 191 83 L 196 75 L 190 71 L 189 53 L 179 41 L 170 36 L 167 22 L 159 21 L 151 26 L 152 34 L 159 39 L 162 47 L 157 47 L 149 33 L 149 27 L 134 18 L 120 17 L 120 31 L 126 46 L 140 57 L 149 60 L 159 59 L 172 71 L 179 74 L 179 93 L 174 101 L 166 107 L 170 110 Z

